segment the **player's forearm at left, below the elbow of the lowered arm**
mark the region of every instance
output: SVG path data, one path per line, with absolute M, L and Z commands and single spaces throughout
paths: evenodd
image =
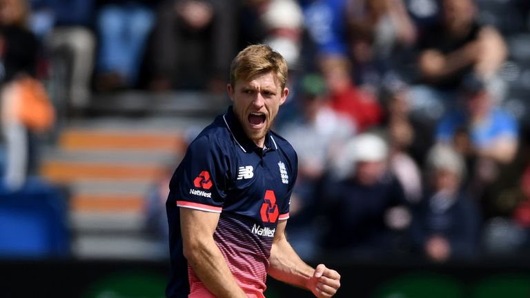
M 190 252 L 186 253 L 186 259 L 197 277 L 215 297 L 246 297 L 213 239 L 191 248 Z

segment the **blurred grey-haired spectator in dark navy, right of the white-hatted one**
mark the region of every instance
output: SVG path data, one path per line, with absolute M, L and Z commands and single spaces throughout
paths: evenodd
M 449 146 L 436 145 L 426 157 L 429 190 L 415 208 L 413 240 L 429 259 L 469 259 L 476 256 L 480 214 L 462 191 L 463 157 Z

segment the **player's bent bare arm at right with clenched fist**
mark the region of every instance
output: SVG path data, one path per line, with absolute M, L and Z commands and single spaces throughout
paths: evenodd
M 285 237 L 287 221 L 279 221 L 271 248 L 268 275 L 311 290 L 316 297 L 332 297 L 340 287 L 340 275 L 337 271 L 320 264 L 313 269 L 308 266 L 288 243 Z

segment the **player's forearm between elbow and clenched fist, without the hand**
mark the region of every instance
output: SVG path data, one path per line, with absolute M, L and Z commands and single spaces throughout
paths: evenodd
M 273 244 L 269 261 L 271 266 L 268 275 L 287 284 L 308 288 L 308 281 L 313 276 L 315 269 L 298 257 L 286 239 Z

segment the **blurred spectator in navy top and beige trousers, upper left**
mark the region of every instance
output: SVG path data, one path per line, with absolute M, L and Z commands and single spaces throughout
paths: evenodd
M 56 102 L 59 101 L 60 108 L 86 108 L 90 103 L 90 78 L 96 46 L 92 32 L 94 2 L 32 1 L 32 27 L 50 50 L 52 72 L 66 66 L 68 73 L 65 75 L 71 78 L 52 76 L 55 78 L 52 83 L 57 84 L 57 88 L 66 89 L 66 98 L 55 98 Z M 64 86 L 59 85 L 61 83 Z M 56 92 L 56 97 L 57 95 Z

